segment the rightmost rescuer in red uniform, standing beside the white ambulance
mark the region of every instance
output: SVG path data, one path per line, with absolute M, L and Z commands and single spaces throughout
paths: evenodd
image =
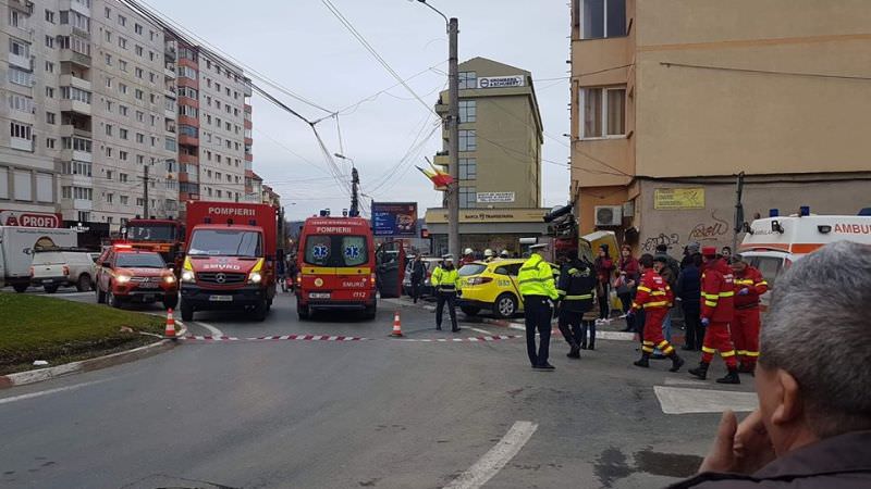
M 735 274 L 735 321 L 732 341 L 738 350 L 738 372 L 752 374 L 759 358 L 759 297 L 769 290 L 769 283 L 759 269 L 744 261 L 740 254 L 732 258 Z

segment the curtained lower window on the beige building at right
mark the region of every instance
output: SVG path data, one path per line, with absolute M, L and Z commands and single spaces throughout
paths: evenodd
M 626 134 L 626 88 L 581 88 L 581 138 Z

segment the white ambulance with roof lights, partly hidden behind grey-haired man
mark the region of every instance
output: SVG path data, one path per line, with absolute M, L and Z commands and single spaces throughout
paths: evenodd
M 770 288 L 796 260 L 830 242 L 871 244 L 871 216 L 811 215 L 807 209 L 800 215 L 776 214 L 773 210 L 772 217 L 753 221 L 738 247 L 750 265 L 762 272 Z M 763 305 L 768 305 L 768 296 L 762 297 Z

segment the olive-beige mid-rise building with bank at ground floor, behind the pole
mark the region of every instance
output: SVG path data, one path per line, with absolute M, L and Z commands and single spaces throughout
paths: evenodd
M 519 252 L 519 238 L 547 230 L 541 209 L 542 125 L 531 73 L 474 58 L 459 63 L 459 240 L 461 248 Z M 436 111 L 447 114 L 447 92 Z M 447 166 L 444 151 L 434 158 Z M 433 250 L 446 252 L 447 211 L 428 209 Z

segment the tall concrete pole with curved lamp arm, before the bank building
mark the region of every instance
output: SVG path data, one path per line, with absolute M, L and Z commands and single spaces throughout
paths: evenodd
M 447 252 L 459 256 L 459 68 L 457 66 L 457 37 L 459 21 L 450 20 L 439 9 L 417 0 L 441 15 L 447 24 L 447 172 L 453 181 L 447 186 Z

